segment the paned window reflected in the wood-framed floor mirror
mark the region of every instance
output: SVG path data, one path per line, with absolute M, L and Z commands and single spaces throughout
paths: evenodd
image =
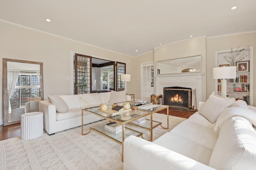
M 9 88 L 9 87 L 8 87 Z M 9 95 L 9 91 L 7 90 Z M 28 102 L 27 98 L 40 97 L 41 88 L 37 73 L 20 73 L 12 97 L 10 105 L 12 109 L 16 109 Z

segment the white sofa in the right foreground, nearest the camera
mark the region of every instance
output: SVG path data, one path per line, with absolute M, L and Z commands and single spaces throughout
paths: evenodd
M 242 100 L 231 105 L 224 104 L 226 98 L 220 98 L 219 103 L 208 100 L 200 102 L 198 112 L 153 142 L 126 138 L 124 170 L 256 169 L 256 107 Z M 210 122 L 212 116 L 214 123 Z

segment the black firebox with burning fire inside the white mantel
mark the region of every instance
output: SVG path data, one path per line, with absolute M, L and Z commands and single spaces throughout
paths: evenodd
M 164 88 L 164 105 L 191 109 L 192 89 L 184 87 Z

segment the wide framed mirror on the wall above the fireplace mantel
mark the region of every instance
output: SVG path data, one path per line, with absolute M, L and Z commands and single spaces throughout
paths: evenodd
M 174 74 L 183 72 L 201 72 L 201 55 L 157 61 L 157 74 Z

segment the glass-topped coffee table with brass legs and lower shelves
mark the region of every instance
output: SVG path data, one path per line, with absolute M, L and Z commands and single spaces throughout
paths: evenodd
M 167 109 L 167 127 L 162 127 L 163 129 L 168 129 L 169 128 L 169 119 L 168 119 L 168 116 L 169 116 L 169 106 L 164 106 L 164 105 L 156 105 L 156 104 L 152 104 L 152 105 L 148 105 L 148 106 L 145 106 L 145 108 L 143 109 L 144 107 L 141 107 L 139 108 L 138 110 L 129 110 L 127 112 L 122 112 L 118 115 L 114 115 L 112 116 L 111 114 L 108 114 L 106 113 L 105 111 L 101 111 L 100 110 L 100 107 L 90 107 L 90 108 L 86 108 L 86 109 L 82 109 L 82 135 L 87 135 L 88 133 L 90 133 L 90 131 L 95 131 L 105 137 L 107 137 L 108 139 L 122 145 L 122 161 L 123 161 L 123 143 L 124 143 L 124 139 L 129 137 L 130 135 L 134 135 L 134 136 L 137 136 L 137 137 L 142 137 L 142 133 L 141 132 L 138 132 L 138 131 L 135 131 L 133 129 L 130 129 L 128 127 L 125 127 L 126 124 L 132 124 L 134 126 L 137 126 L 137 127 L 141 127 L 143 129 L 147 129 L 149 130 L 149 133 L 150 133 L 150 139 L 148 141 L 152 141 L 152 136 L 153 136 L 153 133 L 152 133 L 152 130 L 156 127 L 158 127 L 159 125 L 161 125 L 162 127 L 162 123 L 161 122 L 158 122 L 158 121 L 153 121 L 153 113 L 156 113 L 160 110 L 163 110 L 163 109 Z M 87 112 L 87 113 L 90 113 L 92 115 L 96 115 L 96 116 L 99 116 L 99 117 L 102 117 L 104 119 L 107 119 L 109 120 L 110 122 L 114 121 L 120 125 L 122 125 L 122 133 L 119 133 L 118 135 L 116 135 L 115 133 L 112 133 L 110 131 L 107 131 L 105 130 L 105 125 L 108 123 L 101 123 L 99 125 L 95 125 L 95 126 L 92 126 L 90 127 L 90 130 L 87 132 L 87 133 L 84 133 L 84 128 L 83 128 L 83 125 L 84 125 L 84 112 Z M 146 119 L 146 123 L 143 123 L 143 125 L 136 125 L 136 124 L 133 124 L 132 121 L 135 121 L 137 119 L 140 119 L 142 117 L 145 117 L 145 116 L 148 116 L 150 117 L 150 119 Z

